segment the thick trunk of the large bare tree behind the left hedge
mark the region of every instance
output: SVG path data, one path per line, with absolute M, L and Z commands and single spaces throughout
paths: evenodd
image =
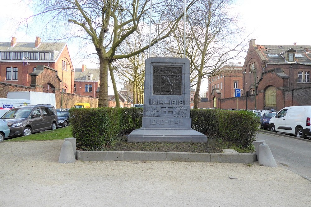
M 100 89 L 99 89 L 99 98 L 98 98 L 98 107 L 109 107 L 108 105 L 108 59 L 102 57 L 99 58 L 100 61 Z

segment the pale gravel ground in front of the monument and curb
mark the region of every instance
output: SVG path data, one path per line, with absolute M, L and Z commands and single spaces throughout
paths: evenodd
M 0 206 L 311 206 L 311 182 L 281 166 L 60 164 L 63 142 L 0 143 Z

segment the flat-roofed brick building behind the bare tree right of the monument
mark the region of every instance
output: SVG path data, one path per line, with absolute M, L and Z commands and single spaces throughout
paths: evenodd
M 208 80 L 207 99 L 214 100 L 211 106 L 207 108 L 218 108 L 217 98 L 231 98 L 234 97 L 234 89 L 242 88 L 243 65 L 241 62 L 221 67 Z

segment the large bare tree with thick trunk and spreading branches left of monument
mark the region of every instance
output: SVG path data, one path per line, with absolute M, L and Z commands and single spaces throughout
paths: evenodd
M 197 0 L 190 0 L 188 10 Z M 63 28 L 67 38 L 82 38 L 87 44 L 93 44 L 100 64 L 99 107 L 108 106 L 109 64 L 118 59 L 137 55 L 149 44 L 128 54 L 120 54 L 118 49 L 138 28 L 147 25 L 150 0 L 38 0 L 36 14 L 32 17 L 39 22 L 48 18 L 49 28 Z M 156 32 L 151 39 L 151 46 L 169 37 L 183 17 L 179 15 L 179 0 L 163 0 L 152 7 L 157 19 Z M 176 6 L 177 5 L 177 6 Z M 182 5 L 182 4 L 181 4 Z M 173 15 L 175 14 L 175 15 Z M 44 18 L 43 18 L 44 17 Z M 73 23 L 77 27 L 70 26 Z M 149 28 L 149 27 L 148 27 Z M 113 73 L 110 71 L 110 75 Z M 116 86 L 114 85 L 114 88 Z M 116 90 L 114 90 L 115 95 Z

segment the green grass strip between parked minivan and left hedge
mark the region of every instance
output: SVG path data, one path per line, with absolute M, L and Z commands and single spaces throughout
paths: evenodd
M 6 139 L 4 142 L 13 142 L 13 141 L 34 141 L 34 140 L 56 140 L 64 139 L 67 137 L 72 137 L 71 135 L 71 126 L 58 128 L 55 130 L 44 131 L 40 133 L 34 133 L 29 136 L 16 137 L 12 139 Z

